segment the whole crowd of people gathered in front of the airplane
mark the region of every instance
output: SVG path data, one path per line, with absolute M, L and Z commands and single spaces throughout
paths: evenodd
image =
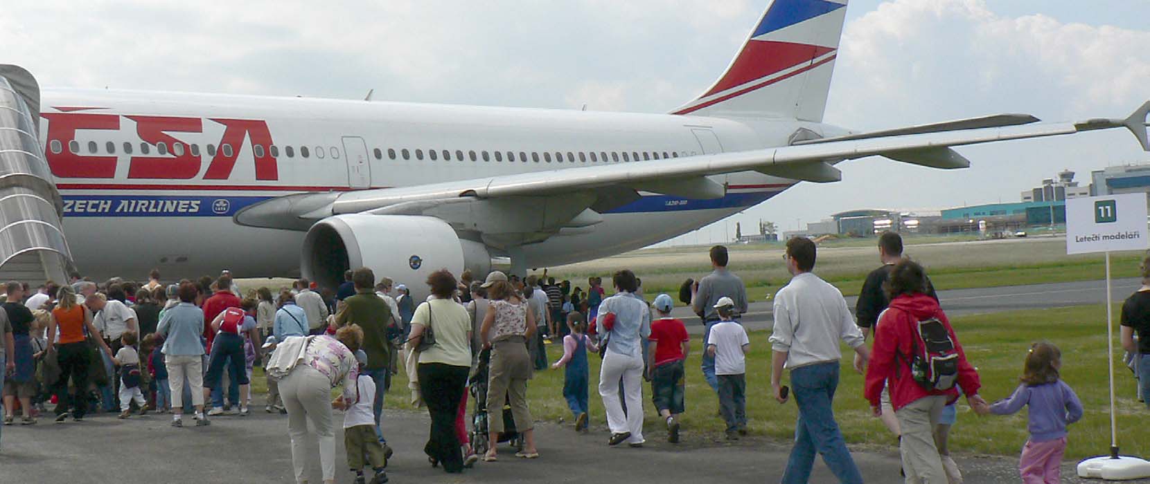
M 854 351 L 853 366 L 865 374 L 862 397 L 897 438 L 906 482 L 961 482 L 946 444 L 960 395 L 979 414 L 1029 406 L 1021 477 L 1058 482 L 1066 427 L 1081 417 L 1082 405 L 1059 378 L 1057 346 L 1035 343 L 1018 389 L 988 404 L 922 266 L 902 252 L 897 234 L 879 239 L 882 265 L 866 279 L 852 311 L 838 289 L 814 274 L 814 242 L 787 242 L 783 264 L 792 278 L 774 297 L 768 338 L 770 395 L 780 404 L 793 399 L 799 415 L 782 482 L 807 482 L 816 455 L 839 482 L 862 481 L 833 409 L 841 343 Z M 747 434 L 751 339 L 739 320 L 749 305 L 743 281 L 727 268 L 727 249 L 712 248 L 710 258 L 713 271 L 684 282 L 678 299 L 705 327 L 702 375 L 734 440 Z M 1150 341 L 1150 258 L 1144 275 L 1147 286 L 1122 311 L 1122 344 L 1133 351 Z M 171 413 L 174 427 L 184 426 L 185 414 L 194 426 L 208 426 L 217 415 L 250 414 L 252 370 L 262 366 L 264 411 L 288 415 L 298 482 L 312 460 L 305 451 L 308 422 L 323 479 L 332 482 L 332 411 L 340 409 L 356 483 L 368 482 L 365 469 L 371 483 L 382 483 L 393 453 L 382 426 L 383 397 L 397 372 L 407 375 L 412 404 L 430 415 L 428 461 L 460 473 L 480 460 L 499 460 L 497 444 L 511 435 L 521 443 L 516 458 L 540 456 L 527 397 L 537 370 L 564 368 L 562 397 L 574 428 L 588 431 L 589 354 L 598 353 L 607 444 L 645 443 L 644 380 L 667 440 L 680 442 L 690 336 L 684 321 L 672 317 L 674 299 L 660 294 L 649 303 L 631 271 L 612 275 L 610 295 L 598 278 L 584 290 L 545 273 L 497 271 L 478 281 L 440 270 L 421 282 L 430 294 L 425 300 L 413 300 L 407 287 L 369 268 L 347 271 L 335 290 L 300 279 L 291 289 L 244 292 L 227 271 L 167 286 L 156 271 L 147 283 L 97 283 L 78 274 L 34 290 L 9 282 L 0 312 L 3 424 L 15 424 L 17 413 L 18 423 L 34 424 L 54 404 L 59 423 L 83 421 L 91 412 L 117 412 L 120 419 L 155 412 Z M 1135 341 L 1135 333 L 1147 337 Z M 549 365 L 552 341 L 561 342 L 562 356 Z M 1150 367 L 1147 361 L 1135 366 Z M 336 388 L 342 391 L 332 400 Z M 1143 389 L 1150 392 L 1150 384 Z M 491 408 L 492 416 L 468 419 L 469 395 L 478 400 L 473 414 Z

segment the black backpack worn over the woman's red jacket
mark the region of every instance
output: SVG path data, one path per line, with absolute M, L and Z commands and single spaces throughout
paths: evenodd
M 927 391 L 945 391 L 958 381 L 958 346 L 937 318 L 912 323 L 911 377 Z

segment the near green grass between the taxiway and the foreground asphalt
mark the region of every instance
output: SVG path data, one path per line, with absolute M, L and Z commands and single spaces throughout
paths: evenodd
M 1007 312 L 988 315 L 956 318 L 954 328 L 966 353 L 982 378 L 982 396 L 989 401 L 1007 397 L 1015 388 L 1018 375 L 1030 342 L 1046 338 L 1063 350 L 1063 377 L 1078 392 L 1086 406 L 1086 416 L 1071 427 L 1066 459 L 1079 459 L 1106 452 L 1110 445 L 1109 390 L 1106 387 L 1105 358 L 1105 306 L 1081 306 L 1046 311 Z M 1117 335 L 1117 330 L 1116 330 Z M 796 406 L 792 403 L 779 405 L 768 398 L 770 350 L 767 333 L 751 335 L 751 353 L 747 356 L 747 416 L 750 430 L 754 435 L 779 440 L 793 435 Z M 1116 336 L 1117 337 L 1117 336 Z M 1117 346 L 1117 344 L 1116 344 Z M 711 443 L 722 438 L 723 424 L 716 416 L 718 400 L 703 381 L 699 372 L 698 342 L 693 342 L 692 353 L 687 364 L 687 407 L 683 415 L 684 442 Z M 560 346 L 549 348 L 552 360 L 559 357 Z M 591 374 L 598 375 L 599 358 L 591 356 Z M 536 420 L 558 422 L 572 421 L 562 399 L 564 372 L 538 372 L 531 380 L 528 395 L 531 413 Z M 1137 431 L 1147 415 L 1142 404 L 1134 399 L 1135 381 L 1125 367 L 1116 367 L 1120 444 L 1125 452 L 1145 454 L 1150 452 L 1150 435 Z M 604 430 L 603 403 L 593 385 L 598 376 L 591 377 L 592 428 Z M 869 407 L 861 397 L 862 376 L 850 368 L 849 359 L 843 360 L 842 380 L 835 401 L 835 413 L 846 440 L 868 444 L 876 448 L 894 448 L 895 439 L 877 419 L 871 416 Z M 643 389 L 647 415 L 647 438 L 665 437 L 660 422 L 653 416 L 650 387 Z M 406 378 L 400 372 L 388 396 L 388 408 L 411 408 L 406 390 Z M 1026 411 L 1013 416 L 980 417 L 971 412 L 965 400 L 959 404 L 958 423 L 951 434 L 951 448 L 960 453 L 1014 455 L 1026 442 Z

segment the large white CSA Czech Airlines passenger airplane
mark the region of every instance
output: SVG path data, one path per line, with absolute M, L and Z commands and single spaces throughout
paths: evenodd
M 7 265 L 36 249 L 98 279 L 229 268 L 325 287 L 366 266 L 419 294 L 440 267 L 484 274 L 507 257 L 523 273 L 650 245 L 799 181 L 837 181 L 845 159 L 959 169 L 969 163 L 954 146 L 1122 126 L 1150 149 L 1150 103 L 1080 123 L 998 115 L 871 133 L 823 124 L 845 7 L 772 1 L 719 80 L 669 114 L 41 95 L 30 73 L 3 67 L 0 97 L 32 120 L 0 109 L 0 142 L 8 133 L 9 154 L 26 157 L 0 170 L 23 166 L 32 177 L 9 180 L 24 179 L 41 202 L 0 186 L 0 257 Z M 36 177 L 47 184 L 28 181 Z M 32 223 L 9 214 L 6 203 L 22 200 Z

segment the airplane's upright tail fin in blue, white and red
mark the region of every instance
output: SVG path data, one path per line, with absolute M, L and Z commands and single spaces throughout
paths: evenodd
M 772 0 L 727 71 L 676 115 L 821 122 L 846 0 Z

